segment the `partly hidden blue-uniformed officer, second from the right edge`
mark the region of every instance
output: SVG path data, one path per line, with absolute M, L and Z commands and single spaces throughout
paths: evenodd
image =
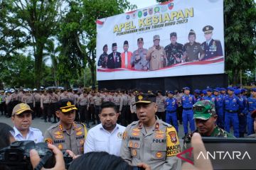
M 239 137 L 245 137 L 245 131 L 246 131 L 246 111 L 245 111 L 245 106 L 247 103 L 247 98 L 246 96 L 242 96 L 241 90 L 236 89 L 234 91 L 235 96 L 238 96 L 241 106 L 238 111 L 238 119 L 239 119 Z

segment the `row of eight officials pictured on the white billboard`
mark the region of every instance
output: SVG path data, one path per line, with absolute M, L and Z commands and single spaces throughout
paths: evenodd
M 153 45 L 144 48 L 143 38 L 137 39 L 137 50 L 129 51 L 129 42 L 123 43 L 123 52 L 117 52 L 117 43 L 112 43 L 112 52 L 107 54 L 107 45 L 103 46 L 103 53 L 97 62 L 98 67 L 106 69 L 134 69 L 138 71 L 154 71 L 164 67 L 171 67 L 181 62 L 198 62 L 213 57 L 223 56 L 220 40 L 213 39 L 213 26 L 203 27 L 206 41 L 196 42 L 196 33 L 190 30 L 188 42 L 184 45 L 177 42 L 176 32 L 170 33 L 170 44 L 161 46 L 159 35 L 153 36 Z

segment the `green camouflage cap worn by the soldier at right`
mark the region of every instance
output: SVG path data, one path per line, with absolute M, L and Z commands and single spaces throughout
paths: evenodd
M 196 102 L 193 105 L 193 112 L 193 118 L 201 120 L 208 120 L 210 117 L 216 115 L 214 103 L 208 100 Z

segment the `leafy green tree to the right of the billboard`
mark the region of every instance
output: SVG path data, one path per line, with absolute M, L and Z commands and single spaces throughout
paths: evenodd
M 252 19 L 256 18 L 255 1 L 224 2 L 225 70 L 232 72 L 232 83 L 238 84 L 240 70 L 255 70 L 256 21 Z

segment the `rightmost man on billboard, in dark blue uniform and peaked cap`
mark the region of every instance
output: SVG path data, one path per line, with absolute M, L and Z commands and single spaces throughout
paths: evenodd
M 220 40 L 213 40 L 213 27 L 205 26 L 203 27 L 204 36 L 206 41 L 201 44 L 204 53 L 203 60 L 209 59 L 211 57 L 223 56 L 223 49 Z

